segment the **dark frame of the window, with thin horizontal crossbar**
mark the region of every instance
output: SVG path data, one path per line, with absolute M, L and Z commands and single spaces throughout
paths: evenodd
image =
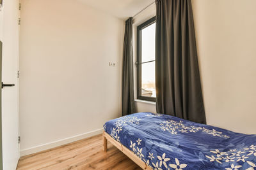
M 137 61 L 136 61 L 136 67 L 137 67 L 137 99 L 141 99 L 144 101 L 154 101 L 156 102 L 156 97 L 147 97 L 147 96 L 141 96 L 141 64 L 147 63 L 147 62 L 156 62 L 155 60 L 147 61 L 141 63 L 141 31 L 145 27 L 148 27 L 149 25 L 152 25 L 156 23 L 156 16 L 150 18 L 146 22 L 143 22 L 142 24 L 138 25 L 137 27 Z

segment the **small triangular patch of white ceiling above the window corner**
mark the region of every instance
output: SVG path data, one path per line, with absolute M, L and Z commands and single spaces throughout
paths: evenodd
M 78 0 L 93 8 L 125 20 L 143 10 L 154 0 Z

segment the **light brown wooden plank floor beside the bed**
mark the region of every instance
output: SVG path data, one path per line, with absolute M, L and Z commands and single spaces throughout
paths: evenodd
M 141 169 L 111 143 L 102 150 L 102 135 L 21 157 L 17 169 Z

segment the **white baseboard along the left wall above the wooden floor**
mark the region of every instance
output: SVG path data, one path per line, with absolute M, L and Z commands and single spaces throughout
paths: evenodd
M 40 152 L 40 151 L 43 151 L 43 150 L 48 150 L 48 149 L 51 149 L 51 148 L 55 148 L 57 146 L 65 145 L 67 143 L 72 143 L 72 142 L 78 141 L 80 139 L 90 138 L 91 136 L 101 134 L 102 131 L 103 131 L 103 129 L 97 129 L 97 130 L 94 130 L 94 131 L 86 132 L 84 134 L 79 134 L 79 135 L 76 135 L 76 136 L 72 136 L 70 138 L 60 139 L 58 141 L 53 141 L 51 143 L 45 143 L 44 145 L 38 145 L 38 146 L 34 146 L 32 148 L 27 148 L 27 149 L 24 149 L 24 150 L 20 150 L 20 157 L 25 156 L 25 155 L 29 155 L 29 154 L 32 154 L 32 153 Z

